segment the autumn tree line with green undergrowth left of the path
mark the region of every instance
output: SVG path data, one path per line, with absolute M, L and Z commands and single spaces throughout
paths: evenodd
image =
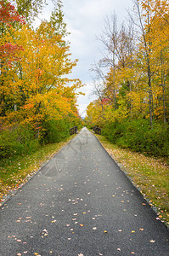
M 33 21 L 45 1 L 0 1 L 0 156 L 55 143 L 81 125 L 76 108 L 78 79 L 71 60 L 61 1 L 49 20 Z

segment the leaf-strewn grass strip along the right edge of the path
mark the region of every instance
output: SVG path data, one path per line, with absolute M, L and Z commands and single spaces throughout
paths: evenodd
M 149 204 L 155 207 L 159 218 L 169 225 L 169 167 L 167 159 L 157 159 L 138 154 L 111 144 L 97 135 L 100 143 L 117 161 L 122 171 L 132 179 Z

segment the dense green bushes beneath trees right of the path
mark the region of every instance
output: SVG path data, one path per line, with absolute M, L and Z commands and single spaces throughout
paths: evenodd
M 107 124 L 104 126 L 104 136 L 122 148 L 155 156 L 169 155 L 168 126 L 154 124 L 151 129 L 146 119 Z

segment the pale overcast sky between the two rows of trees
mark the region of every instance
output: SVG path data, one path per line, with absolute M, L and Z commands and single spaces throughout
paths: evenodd
M 93 85 L 89 71 L 94 62 L 102 57 L 104 45 L 97 39 L 104 30 L 106 15 L 117 15 L 119 23 L 125 20 L 127 9 L 132 9 L 132 0 L 63 0 L 65 22 L 70 32 L 70 52 L 72 60 L 78 59 L 73 68 L 72 78 L 81 79 L 85 96 L 79 96 L 79 113 L 85 115 L 87 105 L 93 101 Z M 49 7 L 45 11 L 49 16 Z

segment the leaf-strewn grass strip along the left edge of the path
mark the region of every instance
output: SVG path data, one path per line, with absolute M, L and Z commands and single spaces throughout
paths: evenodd
M 42 163 L 51 159 L 60 148 L 64 147 L 73 135 L 64 142 L 42 146 L 35 153 L 12 156 L 0 161 L 0 206 L 5 196 L 20 188 L 35 174 Z

